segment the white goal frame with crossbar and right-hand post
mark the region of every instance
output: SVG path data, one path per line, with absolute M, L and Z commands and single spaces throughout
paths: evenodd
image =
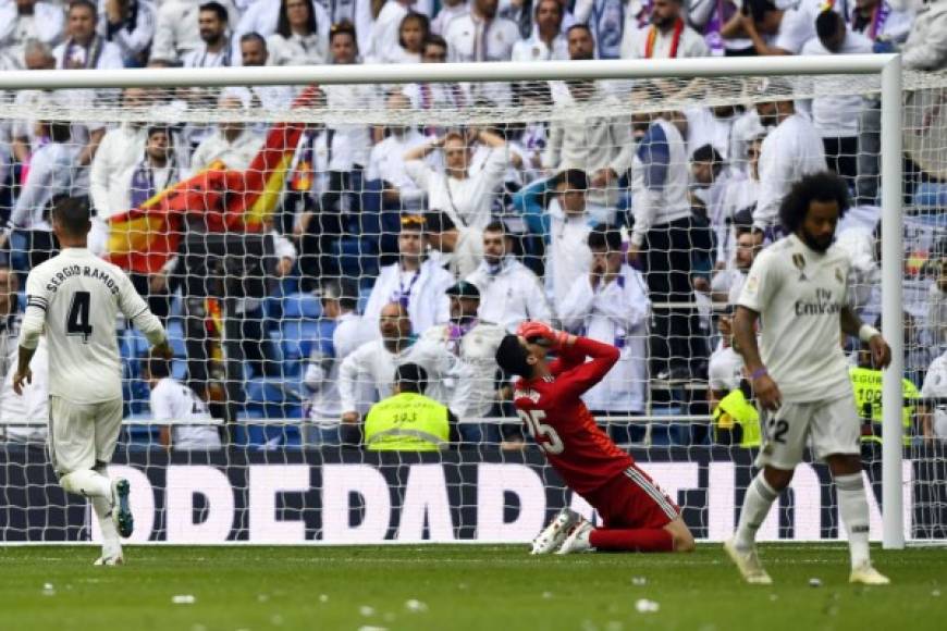
M 883 385 L 883 544 L 905 546 L 902 493 L 903 373 L 902 71 L 899 55 L 702 58 L 545 63 L 394 64 L 0 73 L 0 90 L 115 89 L 308 84 L 407 84 L 860 75 L 878 79 L 881 96 L 882 319 L 893 360 Z

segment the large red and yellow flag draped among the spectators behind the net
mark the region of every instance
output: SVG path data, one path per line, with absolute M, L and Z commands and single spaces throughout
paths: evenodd
M 303 90 L 293 108 L 313 102 L 318 88 Z M 159 271 L 177 252 L 187 215 L 201 215 L 210 232 L 260 232 L 280 199 L 304 123 L 276 123 L 246 171 L 214 162 L 138 208 L 109 220 L 108 259 L 143 274 Z

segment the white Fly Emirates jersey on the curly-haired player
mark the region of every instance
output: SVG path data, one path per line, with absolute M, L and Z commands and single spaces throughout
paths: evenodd
M 836 246 L 816 252 L 796 235 L 753 261 L 738 304 L 760 313 L 760 355 L 786 401 L 851 393 L 840 337 L 849 265 Z

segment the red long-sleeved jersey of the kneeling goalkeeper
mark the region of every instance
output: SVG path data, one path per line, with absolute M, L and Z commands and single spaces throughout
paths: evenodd
M 580 398 L 616 361 L 614 346 L 579 337 L 550 364 L 552 376 L 520 379 L 515 385 L 519 418 L 565 483 L 580 494 L 599 488 L 635 462 L 595 424 Z

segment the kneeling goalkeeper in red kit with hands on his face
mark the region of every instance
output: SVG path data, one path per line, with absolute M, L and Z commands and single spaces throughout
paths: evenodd
M 558 358 L 549 361 L 550 351 Z M 680 509 L 599 429 L 580 398 L 617 360 L 614 346 L 541 322 L 525 322 L 496 350 L 500 367 L 520 378 L 513 399 L 529 433 L 569 488 L 603 521 L 594 528 L 564 508 L 532 542 L 532 554 L 693 549 Z

